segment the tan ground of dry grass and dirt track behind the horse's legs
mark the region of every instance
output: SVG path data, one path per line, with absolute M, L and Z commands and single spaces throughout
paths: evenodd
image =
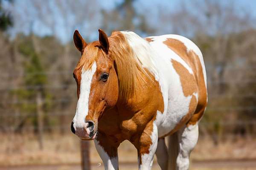
M 80 141 L 72 135 L 44 135 L 44 149 L 40 150 L 37 137 L 0 135 L 0 170 L 79 170 Z M 217 146 L 210 138 L 199 138 L 191 154 L 192 170 L 256 170 L 255 138 L 229 138 Z M 137 169 L 137 150 L 128 141 L 118 150 L 121 170 Z M 103 170 L 93 142 L 90 142 L 92 170 Z M 156 159 L 155 159 L 156 162 Z M 153 170 L 160 170 L 154 163 Z

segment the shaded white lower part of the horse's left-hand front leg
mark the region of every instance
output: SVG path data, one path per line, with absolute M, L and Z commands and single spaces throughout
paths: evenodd
M 110 158 L 108 156 L 108 153 L 105 152 L 105 150 L 102 148 L 102 146 L 99 144 L 99 141 L 94 140 L 94 144 L 96 147 L 96 150 L 99 153 L 100 158 L 103 161 L 105 170 L 118 170 L 118 157 Z

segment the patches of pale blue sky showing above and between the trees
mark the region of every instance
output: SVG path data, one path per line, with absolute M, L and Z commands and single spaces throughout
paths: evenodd
M 25 34 L 29 34 L 30 31 L 35 32 L 35 34 L 38 34 L 40 36 L 45 36 L 45 35 L 51 35 L 53 34 L 52 30 L 45 26 L 42 22 L 40 22 L 40 20 L 37 20 L 37 17 L 35 17 L 35 13 L 37 11 L 35 11 L 35 8 L 33 8 L 30 4 L 32 0 L 15 0 L 14 4 L 10 5 L 9 3 L 7 3 L 6 1 L 3 1 L 3 6 L 4 8 L 7 9 L 11 9 L 12 11 L 15 11 L 15 13 L 17 13 L 15 15 L 15 21 L 16 24 L 14 26 L 14 28 L 12 28 L 12 30 L 10 30 L 10 34 L 11 37 L 14 37 L 17 32 L 23 32 Z M 47 0 L 38 0 L 39 2 L 41 2 L 42 5 L 44 5 L 44 3 L 50 3 L 52 5 L 51 8 L 54 9 L 52 11 L 54 11 L 54 13 L 52 15 L 45 14 L 45 20 L 48 22 L 51 22 L 51 18 L 55 17 L 55 29 L 57 29 L 58 31 L 56 31 L 55 35 L 64 42 L 69 41 L 72 38 L 72 32 L 73 29 L 75 28 L 67 28 L 67 26 L 64 25 L 65 19 L 63 18 L 63 16 L 59 15 L 59 12 L 57 10 L 55 10 L 54 7 L 54 3 L 52 3 L 53 1 L 47 1 Z M 188 5 L 191 2 L 191 0 L 184 0 L 185 3 Z M 214 0 L 212 0 L 214 1 Z M 61 1 L 60 1 L 61 2 Z M 73 2 L 76 2 L 75 0 Z M 107 10 L 111 10 L 113 9 L 116 4 L 119 4 L 120 2 L 122 2 L 122 0 L 99 0 L 99 4 L 101 6 L 101 8 L 107 9 Z M 162 6 L 165 7 L 165 9 L 168 9 L 169 11 L 175 11 L 178 7 L 179 7 L 179 2 L 180 0 L 137 0 L 136 3 L 134 4 L 137 11 L 138 12 L 147 12 L 145 10 L 150 9 L 151 11 L 151 18 L 150 18 L 150 22 L 154 25 L 157 24 L 157 7 Z M 221 1 L 221 3 L 223 4 L 229 4 L 229 3 L 234 3 L 236 5 L 237 11 L 239 10 L 244 10 L 244 11 L 250 11 L 251 16 L 256 17 L 256 10 L 253 10 L 256 8 L 256 0 L 223 0 Z M 93 7 L 92 7 L 93 8 Z M 189 8 L 191 10 L 195 10 L 195 8 Z M 97 8 L 95 8 L 95 10 L 97 10 Z M 92 24 L 81 24 L 81 26 L 77 26 L 77 28 L 82 29 L 84 32 L 90 32 L 90 39 L 95 39 L 97 37 L 97 28 L 100 26 L 101 23 L 100 20 L 102 18 L 102 16 L 100 16 L 100 10 L 98 10 L 96 13 L 98 13 L 98 17 L 96 17 L 96 20 L 93 21 Z M 67 16 L 68 20 L 74 20 L 74 18 L 72 18 L 72 15 Z M 49 19 L 48 19 L 49 18 Z M 83 31 L 81 34 L 83 34 Z M 84 34 L 84 36 L 88 37 L 88 34 L 86 33 L 86 35 Z

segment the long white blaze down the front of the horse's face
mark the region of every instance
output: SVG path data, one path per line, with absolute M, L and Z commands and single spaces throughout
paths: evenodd
M 90 87 L 93 79 L 93 74 L 95 73 L 95 71 L 96 71 L 96 62 L 93 62 L 91 69 L 88 69 L 86 71 L 82 69 L 79 100 L 76 106 L 76 115 L 73 119 L 73 122 L 74 122 L 73 126 L 76 131 L 77 131 L 77 128 L 83 129 L 83 127 L 86 127 L 85 116 L 88 114 Z

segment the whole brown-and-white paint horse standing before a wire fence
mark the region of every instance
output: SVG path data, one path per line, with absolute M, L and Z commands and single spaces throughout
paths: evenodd
M 87 44 L 77 30 L 73 38 L 81 58 L 73 72 L 78 102 L 72 132 L 94 139 L 105 170 L 118 170 L 124 140 L 137 148 L 140 170 L 151 169 L 154 154 L 162 170 L 168 163 L 187 170 L 207 105 L 199 48 L 173 34 L 143 39 L 115 31 L 108 37 L 99 29 L 99 41 Z

